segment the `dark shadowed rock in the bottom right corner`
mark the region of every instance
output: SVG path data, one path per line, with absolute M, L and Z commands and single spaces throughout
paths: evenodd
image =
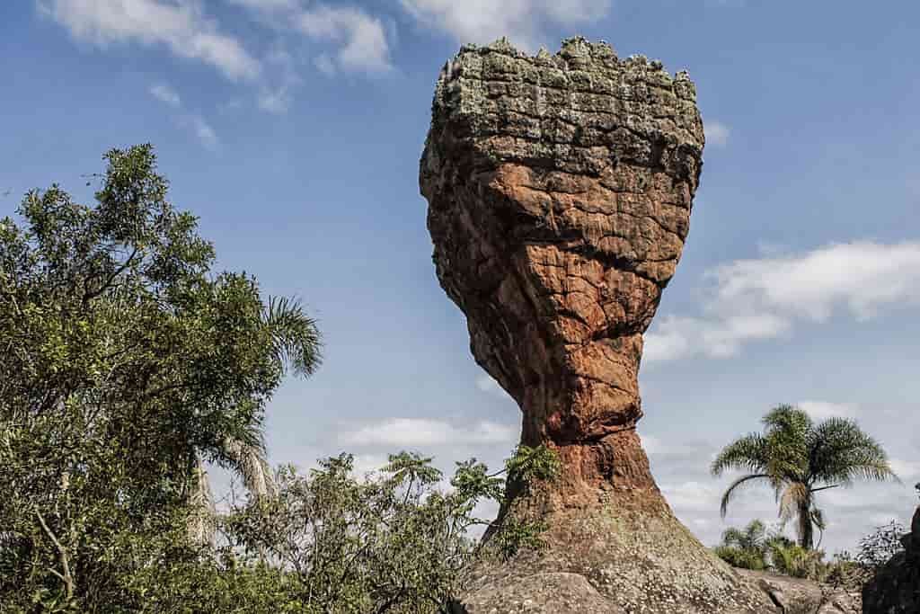
M 920 490 L 920 484 L 917 488 Z M 920 507 L 914 513 L 911 532 L 901 543 L 903 552 L 885 563 L 863 589 L 863 611 L 867 614 L 920 612 Z

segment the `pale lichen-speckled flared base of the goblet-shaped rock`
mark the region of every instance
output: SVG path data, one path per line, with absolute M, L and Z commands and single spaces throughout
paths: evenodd
M 564 517 L 561 517 L 564 516 Z M 546 550 L 470 573 L 456 611 L 774 614 L 756 582 L 701 544 L 666 505 L 600 504 L 553 514 Z

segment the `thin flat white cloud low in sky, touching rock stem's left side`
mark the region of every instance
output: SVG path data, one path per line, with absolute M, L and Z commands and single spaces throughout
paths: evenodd
M 367 424 L 344 434 L 341 443 L 351 446 L 419 447 L 444 445 L 507 444 L 512 446 L 517 431 L 510 426 L 488 421 L 472 427 L 454 426 L 441 420 L 390 418 Z

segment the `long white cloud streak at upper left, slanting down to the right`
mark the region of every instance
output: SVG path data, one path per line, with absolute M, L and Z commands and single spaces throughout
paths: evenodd
M 228 78 L 255 79 L 259 61 L 217 29 L 198 3 L 179 0 L 40 0 L 40 10 L 75 39 L 165 46 L 178 57 L 211 64 Z

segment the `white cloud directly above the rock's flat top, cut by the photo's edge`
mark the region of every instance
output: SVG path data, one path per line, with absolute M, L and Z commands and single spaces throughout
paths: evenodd
M 535 51 L 550 26 L 571 27 L 607 15 L 610 0 L 401 0 L 422 25 L 441 29 L 461 43 L 508 36 Z

